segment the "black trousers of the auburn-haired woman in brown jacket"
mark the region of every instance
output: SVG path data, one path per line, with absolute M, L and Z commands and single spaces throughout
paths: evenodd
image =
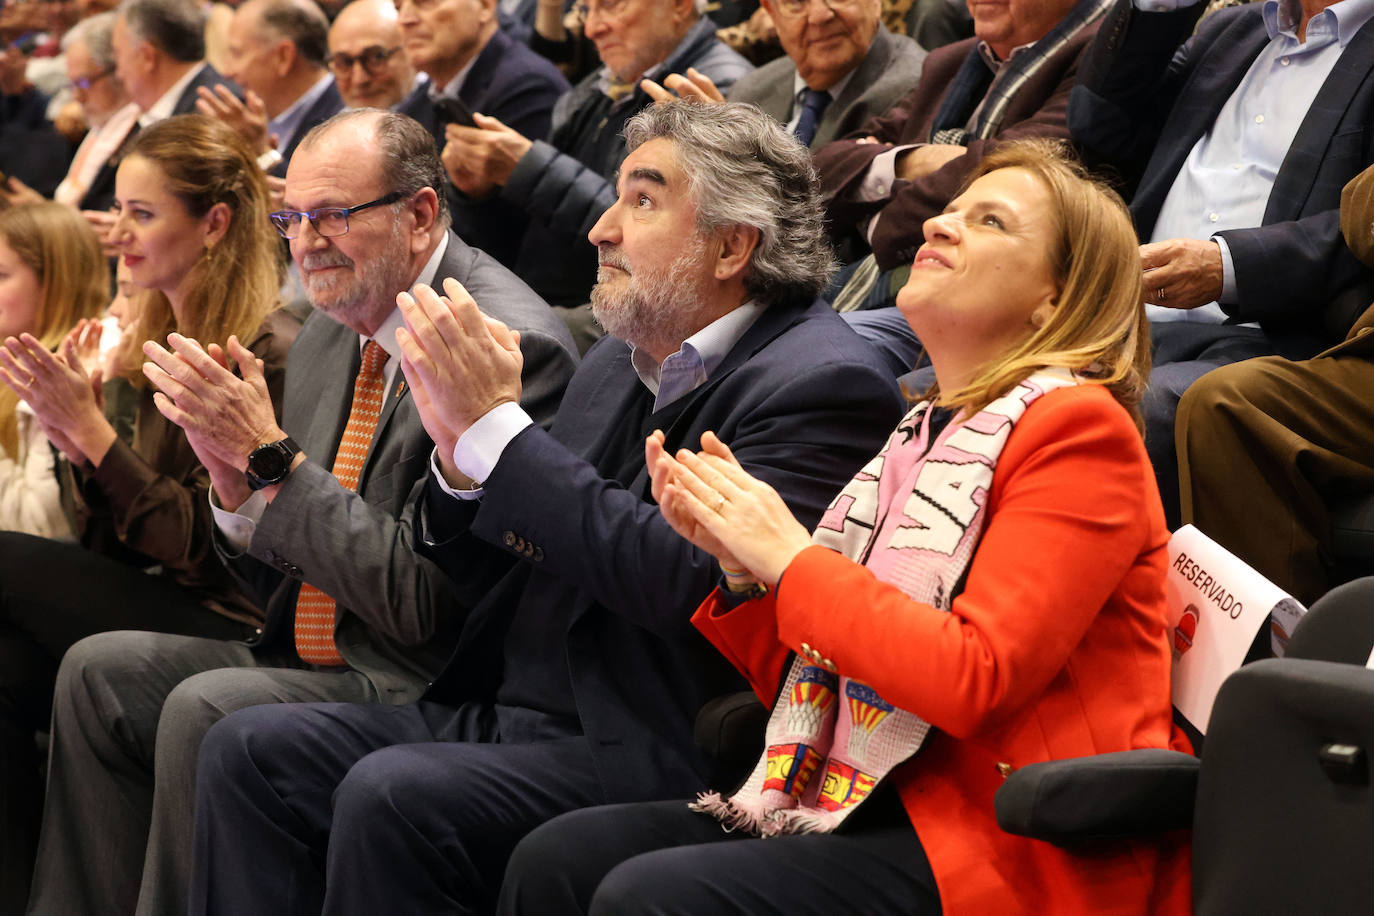
M 48 728 L 62 654 L 124 629 L 242 639 L 251 628 L 74 544 L 0 533 L 0 913 L 22 913 L 29 898 L 43 806 L 34 732 Z

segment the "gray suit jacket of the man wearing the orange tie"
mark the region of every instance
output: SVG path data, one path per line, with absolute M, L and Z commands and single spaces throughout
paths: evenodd
M 548 424 L 572 378 L 577 350 L 566 325 L 514 273 L 452 232 L 436 280 L 455 277 L 482 310 L 521 332 L 522 407 Z M 459 610 L 442 571 L 412 549 L 412 514 L 433 444 L 409 386 L 397 372 L 382 408 L 357 492 L 330 472 L 353 398 L 359 336 L 313 313 L 286 367 L 282 427 L 308 456 L 262 514 L 247 553 L 217 548 L 267 611 L 258 648 L 294 658 L 300 581 L 338 602 L 334 637 L 348 663 L 371 678 L 382 699 L 419 696 L 444 666 Z M 508 560 L 492 549 L 493 581 Z M 484 566 L 484 564 L 478 564 Z

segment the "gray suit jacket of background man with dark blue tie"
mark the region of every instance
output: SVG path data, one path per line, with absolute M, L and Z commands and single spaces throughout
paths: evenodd
M 811 148 L 853 133 L 868 118 L 875 118 L 894 106 L 901 96 L 915 88 L 925 59 L 926 52 L 919 44 L 905 36 L 892 34 L 879 25 L 863 63 L 845 84 L 840 98 L 834 99 L 820 115 L 820 125 L 811 140 Z M 787 124 L 796 102 L 793 93 L 796 76 L 797 65 L 783 55 L 739 77 L 728 98 L 731 102 L 757 104 L 765 114 Z

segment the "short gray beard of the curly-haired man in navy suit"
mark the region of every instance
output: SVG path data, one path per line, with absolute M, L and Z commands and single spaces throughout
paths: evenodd
M 624 269 L 624 254 L 611 247 L 600 260 Z M 610 290 L 596 272 L 592 287 L 592 317 L 606 334 L 627 343 L 651 350 L 676 352 L 683 341 L 701 330 L 708 279 L 706 246 L 692 239 L 666 271 L 639 269 L 629 275 L 622 291 Z M 671 347 L 671 349 L 669 349 Z

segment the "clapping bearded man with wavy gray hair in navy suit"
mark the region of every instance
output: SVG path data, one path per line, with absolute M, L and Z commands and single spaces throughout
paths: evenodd
M 816 301 L 831 260 L 794 137 L 752 106 L 669 102 L 625 139 L 589 235 L 613 336 L 548 433 L 480 301 L 403 297 L 436 444 L 418 540 L 471 610 L 418 703 L 260 707 L 210 731 L 192 913 L 486 912 L 545 820 L 702 787 L 692 721 L 742 681 L 690 628 L 720 569 L 658 514 L 646 449 L 713 431 L 815 523 L 901 401 Z M 482 592 L 474 542 L 517 558 Z

